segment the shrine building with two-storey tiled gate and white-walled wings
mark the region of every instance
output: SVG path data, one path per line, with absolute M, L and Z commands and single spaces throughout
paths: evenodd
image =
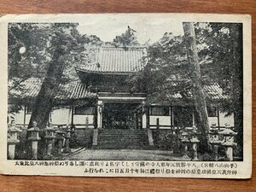
M 126 131 L 125 134 L 131 134 L 131 131 L 138 131 L 139 134 L 143 130 L 195 126 L 194 102 L 184 102 L 180 92 L 167 95 L 166 102 L 148 103 L 146 93 L 133 91 L 127 83 L 131 74 L 143 70 L 145 55 L 147 48 L 143 46 L 126 49 L 102 46 L 90 63 L 76 67 L 79 81 L 60 85 L 49 120 L 55 126 L 73 125 L 77 130 L 99 130 L 93 133 L 94 144 L 100 141 L 95 137 L 102 133 L 101 130 L 109 130 L 108 134 L 105 132 L 108 136 L 120 130 L 123 133 Z M 42 81 L 27 79 L 22 84 L 24 90 L 12 90 L 11 94 L 16 97 L 9 98 L 9 104 L 13 99 L 22 100 L 24 105 L 14 117 L 16 125 L 26 127 L 32 113 L 30 101 L 38 95 Z M 203 90 L 209 124 L 234 126 L 233 115 L 226 117 L 218 108 L 219 103 L 228 100 L 229 96 L 224 95 L 218 84 L 204 85 Z

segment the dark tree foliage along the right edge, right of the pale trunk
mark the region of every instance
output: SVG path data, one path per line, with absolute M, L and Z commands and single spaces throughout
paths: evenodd
M 237 143 L 242 156 L 242 25 L 240 23 L 197 23 L 197 44 L 204 44 L 199 55 L 206 64 L 201 66 L 205 84 L 218 83 L 230 96 L 219 107 L 226 115 L 234 114 Z

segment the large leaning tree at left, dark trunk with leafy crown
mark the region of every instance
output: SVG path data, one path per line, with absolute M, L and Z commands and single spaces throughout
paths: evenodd
M 9 79 L 20 82 L 36 77 L 44 80 L 32 108 L 32 121 L 45 127 L 59 84 L 65 83 L 65 69 L 79 61 L 84 39 L 76 23 L 9 25 Z M 20 47 L 25 51 L 20 52 Z M 22 87 L 20 87 L 22 89 Z

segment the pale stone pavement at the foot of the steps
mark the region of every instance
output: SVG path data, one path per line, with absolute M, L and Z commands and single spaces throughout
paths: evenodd
M 172 151 L 142 149 L 81 149 L 62 160 L 190 160 Z

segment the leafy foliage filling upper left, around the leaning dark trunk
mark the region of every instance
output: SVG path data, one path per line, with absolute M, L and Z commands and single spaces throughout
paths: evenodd
M 81 65 L 94 44 L 101 44 L 96 36 L 81 36 L 77 23 L 10 23 L 9 32 L 9 97 L 11 90 L 22 90 L 26 79 L 44 81 L 54 57 L 65 51 L 64 70 L 57 84 L 78 80 L 74 66 Z M 55 64 L 54 64 L 55 65 Z M 20 110 L 20 101 L 12 101 L 9 112 Z

